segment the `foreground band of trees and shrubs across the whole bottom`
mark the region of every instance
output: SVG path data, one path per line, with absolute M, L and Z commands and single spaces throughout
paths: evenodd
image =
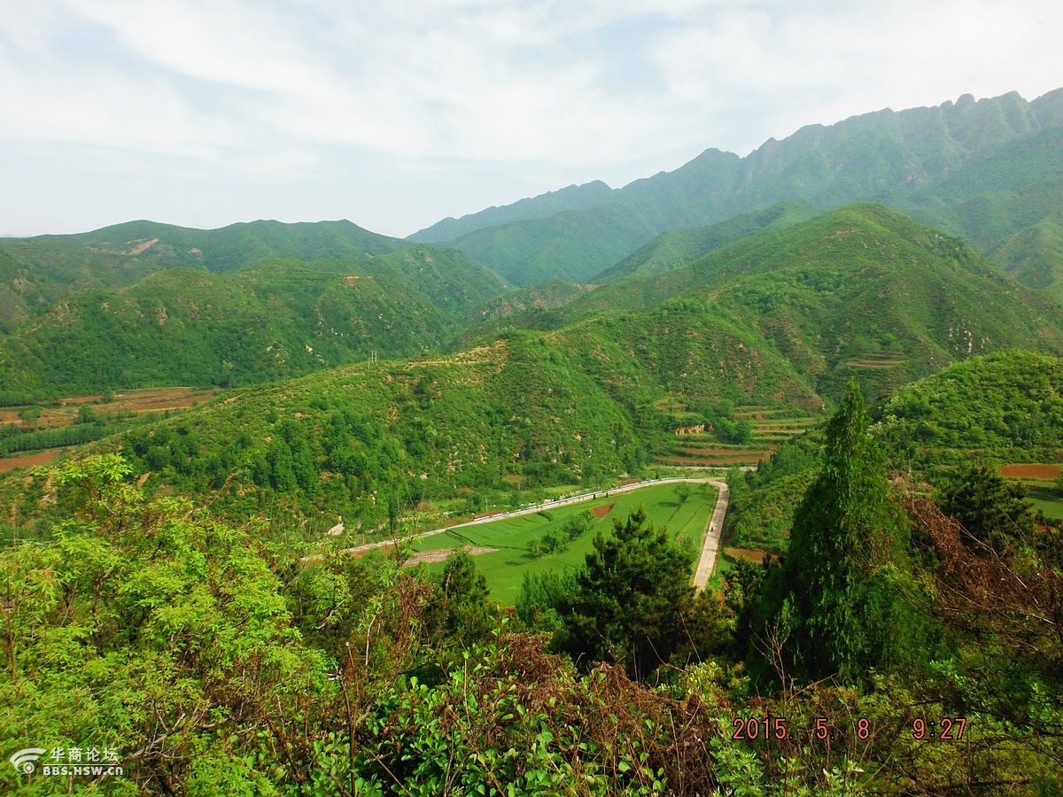
M 1063 791 L 1063 542 L 992 472 L 893 484 L 855 384 L 779 566 L 722 589 L 641 512 L 492 605 L 458 552 L 274 544 L 118 456 L 0 550 L 0 742 L 120 751 L 139 794 Z M 947 512 L 947 513 L 946 513 Z M 32 707 L 32 710 L 28 710 Z

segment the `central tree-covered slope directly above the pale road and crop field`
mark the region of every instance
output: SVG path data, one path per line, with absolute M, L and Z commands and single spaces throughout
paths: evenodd
M 527 333 L 227 391 L 99 445 L 121 446 L 153 484 L 220 491 L 216 507 L 233 516 L 261 513 L 283 528 L 299 516 L 321 528 L 325 518 L 327 528 L 340 513 L 352 530 L 378 529 L 421 498 L 595 484 L 645 461 L 625 405 Z M 33 502 L 6 485 L 4 506 Z

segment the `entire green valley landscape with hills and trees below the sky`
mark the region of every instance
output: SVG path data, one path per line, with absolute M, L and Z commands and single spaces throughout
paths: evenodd
M 0 239 L 0 740 L 115 794 L 1060 793 L 1061 103 L 405 240 Z

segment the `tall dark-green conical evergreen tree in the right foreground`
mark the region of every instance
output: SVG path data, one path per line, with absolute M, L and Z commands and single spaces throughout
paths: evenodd
M 775 607 L 783 661 L 798 676 L 859 681 L 894 634 L 889 565 L 907 526 L 885 458 L 867 435 L 856 380 L 827 424 L 823 468 L 794 514 Z

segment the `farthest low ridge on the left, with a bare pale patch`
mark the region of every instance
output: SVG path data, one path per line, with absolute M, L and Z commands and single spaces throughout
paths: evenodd
M 65 296 L 130 285 L 162 269 L 225 273 L 269 258 L 361 259 L 403 245 L 349 221 L 255 221 L 219 230 L 131 221 L 79 235 L 3 239 L 0 333 L 13 332 Z

